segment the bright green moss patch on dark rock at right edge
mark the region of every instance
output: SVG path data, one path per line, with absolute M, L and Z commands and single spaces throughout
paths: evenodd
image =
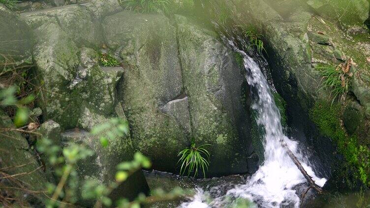
M 349 136 L 340 125 L 340 106 L 327 102 L 316 102 L 309 112 L 310 119 L 320 132 L 337 143 L 337 149 L 350 166 L 357 171 L 356 176 L 365 185 L 370 186 L 370 151 L 359 145 L 357 136 Z

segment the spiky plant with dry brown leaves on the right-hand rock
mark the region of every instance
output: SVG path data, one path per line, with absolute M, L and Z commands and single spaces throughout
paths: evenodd
M 352 78 L 353 74 L 349 72 L 352 66 L 352 59 L 348 59 L 343 64 L 339 64 L 337 67 L 330 65 L 322 65 L 316 67 L 319 70 L 321 77 L 323 77 L 322 88 L 330 90 L 332 96 L 332 104 L 336 99 L 339 99 L 341 95 L 345 95 L 349 88 L 349 79 Z

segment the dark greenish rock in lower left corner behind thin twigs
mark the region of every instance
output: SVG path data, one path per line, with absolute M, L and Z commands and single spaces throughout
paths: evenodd
M 0 109 L 0 128 L 15 129 L 12 120 L 2 109 Z M 46 200 L 42 192 L 46 191 L 48 180 L 41 164 L 33 155 L 26 138 L 19 131 L 9 130 L 2 131 L 0 139 L 0 175 L 1 177 L 5 177 L 4 174 L 18 175 L 13 177 L 14 180 L 1 179 L 1 184 L 19 188 L 20 191 L 7 190 L 3 187 L 1 189 L 6 190 L 10 196 L 17 196 L 30 201 L 36 199 L 34 201 L 36 204 L 37 201 L 40 203 Z

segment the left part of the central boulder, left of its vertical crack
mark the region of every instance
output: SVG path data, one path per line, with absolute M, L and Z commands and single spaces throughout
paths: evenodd
M 160 14 L 123 11 L 106 17 L 103 28 L 107 46 L 120 54 L 125 65 L 117 91 L 133 146 L 152 159 L 154 169 L 176 172 L 177 154 L 189 146 L 190 136 L 186 132 L 189 116 L 183 122 L 174 116 L 188 111 L 172 108 L 165 113 L 163 109 L 169 102 L 181 102 L 187 108 L 187 100 L 178 99 L 182 75 L 176 27 Z

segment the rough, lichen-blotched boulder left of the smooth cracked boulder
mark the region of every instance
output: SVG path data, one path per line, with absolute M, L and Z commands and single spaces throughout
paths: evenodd
M 78 48 L 60 21 L 53 23 L 54 17 L 42 16 L 51 22 L 41 26 L 32 25 L 39 16 L 27 17 L 37 34 L 32 54 L 38 84 L 43 86 L 38 104 L 43 108 L 44 120 L 53 119 L 62 129 L 89 130 L 101 117 L 115 116 L 115 85 L 122 68 L 99 67 L 97 53 L 91 48 Z M 70 32 L 79 33 L 74 29 Z

